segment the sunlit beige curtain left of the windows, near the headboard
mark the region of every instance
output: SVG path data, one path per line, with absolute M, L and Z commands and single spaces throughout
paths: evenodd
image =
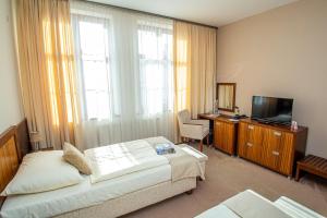
M 17 0 L 20 80 L 32 142 L 74 143 L 75 66 L 68 0 Z

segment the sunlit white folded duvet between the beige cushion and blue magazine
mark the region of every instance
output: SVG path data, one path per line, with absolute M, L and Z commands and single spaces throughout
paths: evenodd
M 145 140 L 107 145 L 84 153 L 92 164 L 92 183 L 169 164 Z

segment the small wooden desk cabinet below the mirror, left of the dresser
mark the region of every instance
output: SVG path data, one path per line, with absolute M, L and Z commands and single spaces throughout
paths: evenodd
M 230 155 L 235 154 L 238 123 L 229 117 L 218 117 L 214 124 L 214 146 Z

